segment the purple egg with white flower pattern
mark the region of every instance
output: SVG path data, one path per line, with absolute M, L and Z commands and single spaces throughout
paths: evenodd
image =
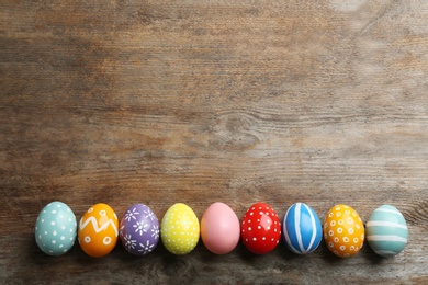
M 123 247 L 135 255 L 143 256 L 150 253 L 159 242 L 159 220 L 144 204 L 128 207 L 119 228 Z

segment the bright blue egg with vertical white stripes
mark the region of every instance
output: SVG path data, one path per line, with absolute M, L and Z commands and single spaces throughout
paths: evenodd
M 313 252 L 322 241 L 318 215 L 304 203 L 295 203 L 286 210 L 282 227 L 285 246 L 294 253 Z

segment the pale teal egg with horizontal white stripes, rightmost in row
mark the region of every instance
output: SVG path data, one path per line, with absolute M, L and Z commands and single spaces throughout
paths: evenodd
M 380 206 L 369 217 L 365 224 L 365 235 L 369 246 L 375 253 L 382 256 L 396 255 L 407 244 L 406 219 L 396 207 Z

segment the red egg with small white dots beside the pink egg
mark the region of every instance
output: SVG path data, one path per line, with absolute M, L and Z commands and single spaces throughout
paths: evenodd
M 277 212 L 266 203 L 248 208 L 240 224 L 244 246 L 256 254 L 271 252 L 281 238 L 281 223 Z

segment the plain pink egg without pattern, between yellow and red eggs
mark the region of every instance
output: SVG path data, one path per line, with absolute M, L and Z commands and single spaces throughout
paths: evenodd
M 217 202 L 206 208 L 201 219 L 201 238 L 213 253 L 226 254 L 238 244 L 239 219 L 226 204 Z

